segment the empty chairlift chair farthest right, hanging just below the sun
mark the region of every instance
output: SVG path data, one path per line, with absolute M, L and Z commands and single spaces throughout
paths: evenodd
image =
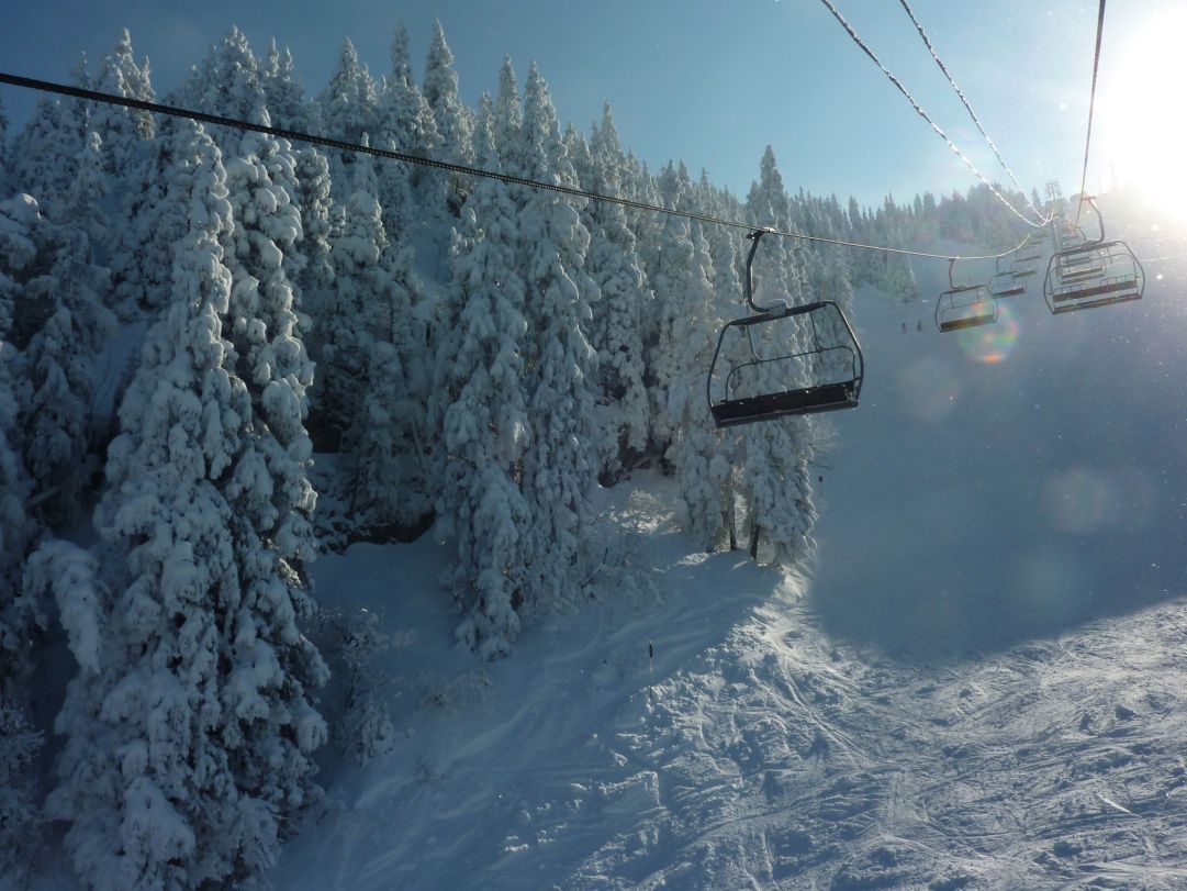
M 1084 200 L 1097 210 L 1100 238 L 1056 251 L 1047 264 L 1043 296 L 1056 315 L 1141 299 L 1145 287 L 1145 271 L 1129 245 L 1105 241 L 1100 211 L 1091 197 Z

